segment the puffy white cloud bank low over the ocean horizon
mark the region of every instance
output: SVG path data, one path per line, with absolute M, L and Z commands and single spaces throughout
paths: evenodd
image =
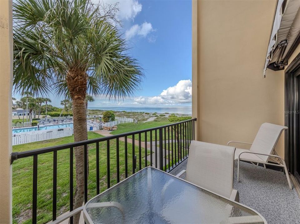
M 192 102 L 191 80 L 180 80 L 175 86 L 163 90 L 159 96 L 135 97 L 135 104 L 182 104 Z

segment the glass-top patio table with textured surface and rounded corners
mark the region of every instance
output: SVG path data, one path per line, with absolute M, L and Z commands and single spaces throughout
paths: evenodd
M 153 167 L 89 200 L 86 223 L 266 223 L 253 209 Z

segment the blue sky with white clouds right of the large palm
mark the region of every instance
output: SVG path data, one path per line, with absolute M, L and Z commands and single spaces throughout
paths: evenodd
M 145 77 L 131 99 L 115 102 L 97 97 L 89 106 L 190 105 L 191 1 L 104 0 L 106 2 L 119 2 L 121 32 L 131 48 L 130 55 L 139 61 Z M 61 99 L 49 97 L 52 105 L 59 106 Z

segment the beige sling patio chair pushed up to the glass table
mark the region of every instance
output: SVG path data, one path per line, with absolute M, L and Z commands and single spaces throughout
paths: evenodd
M 239 202 L 239 192 L 233 189 L 235 147 L 192 141 L 184 173 L 185 180 Z

